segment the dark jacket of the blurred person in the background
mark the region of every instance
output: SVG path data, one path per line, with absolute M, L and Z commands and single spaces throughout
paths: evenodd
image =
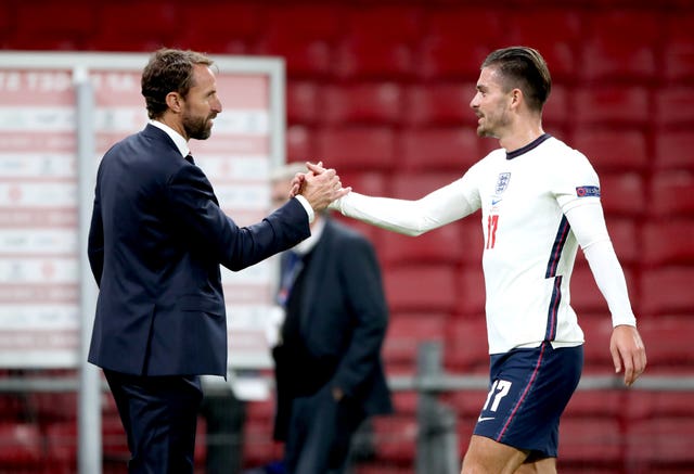
M 361 407 L 362 417 L 393 411 L 381 358 L 388 308 L 373 246 L 354 229 L 327 219 L 301 271 L 299 310 L 290 308 L 286 315 L 299 319 L 299 341 L 273 349 L 277 439 L 285 439 L 290 430 L 292 399 L 320 385 L 339 387 Z

